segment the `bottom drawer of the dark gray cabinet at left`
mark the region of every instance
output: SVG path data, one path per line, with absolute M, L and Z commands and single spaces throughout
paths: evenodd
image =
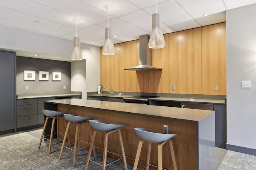
M 17 128 L 37 124 L 37 114 L 17 117 Z

